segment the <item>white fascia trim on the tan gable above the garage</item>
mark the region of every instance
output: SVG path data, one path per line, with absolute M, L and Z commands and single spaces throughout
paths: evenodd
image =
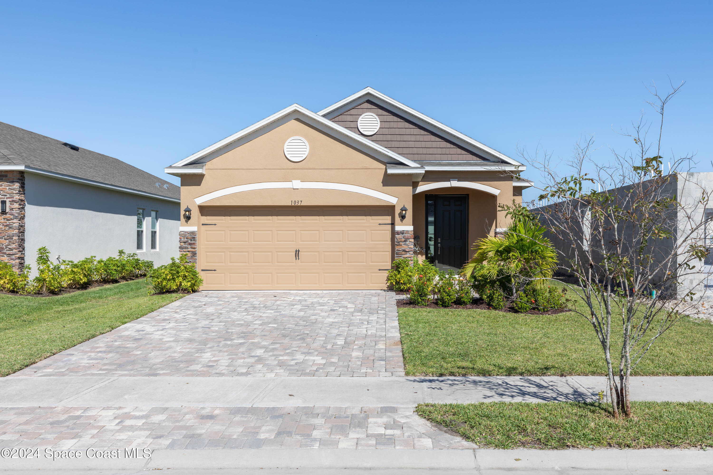
M 379 156 L 385 156 L 389 159 L 397 160 L 401 163 L 404 163 L 405 165 L 409 165 L 409 167 L 419 167 L 419 165 L 407 159 L 406 157 L 402 157 L 396 152 L 393 152 L 386 147 L 382 147 L 376 142 L 372 142 L 369 139 L 361 137 L 361 135 L 357 135 L 351 130 L 345 129 L 341 125 L 334 123 L 331 120 L 325 119 L 321 115 L 313 113 L 311 110 L 303 108 L 299 104 L 292 104 L 288 108 L 284 108 L 279 112 L 270 115 L 270 117 L 262 119 L 259 122 L 255 122 L 255 124 L 250 125 L 250 127 L 245 127 L 245 129 L 242 129 L 239 132 L 235 132 L 235 134 L 230 135 L 230 137 L 225 137 L 223 140 L 220 140 L 219 142 L 215 142 L 213 145 L 210 145 L 210 147 L 205 147 L 203 150 L 200 150 L 199 152 L 195 152 L 193 155 L 190 155 L 190 157 L 186 157 L 183 160 L 180 160 L 180 162 L 175 162 L 173 165 L 171 165 L 171 167 L 181 167 L 183 165 L 188 165 L 190 162 L 194 162 L 195 160 L 207 157 L 213 152 L 220 150 L 223 147 L 227 147 L 227 145 L 230 145 L 232 142 L 240 140 L 241 138 L 246 137 L 247 135 L 250 135 L 253 132 L 257 132 L 257 130 L 262 129 L 262 127 L 266 127 L 272 122 L 284 118 L 285 116 L 292 113 L 301 114 L 304 118 L 308 118 L 309 120 L 314 122 L 314 125 L 319 126 L 324 131 L 328 133 L 337 133 L 339 135 L 342 135 L 343 137 L 347 137 L 347 140 L 356 142 L 356 144 L 361 145 L 361 147 L 366 147 L 367 150 L 371 150 L 372 153 L 376 152 L 376 154 Z

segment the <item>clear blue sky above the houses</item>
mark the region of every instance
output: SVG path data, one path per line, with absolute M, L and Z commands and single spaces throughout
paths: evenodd
M 496 150 L 568 157 L 686 80 L 665 155 L 713 165 L 713 5 L 690 2 L 0 1 L 0 120 L 170 165 L 292 103 L 367 85 Z M 525 176 L 537 179 L 534 171 Z M 531 198 L 531 196 L 530 196 Z

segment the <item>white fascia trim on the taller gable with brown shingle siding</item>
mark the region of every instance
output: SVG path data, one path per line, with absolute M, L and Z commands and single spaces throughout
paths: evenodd
M 511 165 L 520 165 L 520 162 L 518 162 L 517 160 L 513 160 L 511 157 L 508 157 L 507 155 L 505 155 L 501 152 L 498 152 L 497 150 L 495 150 L 491 147 L 488 147 L 487 145 L 485 145 L 481 142 L 478 142 L 478 140 L 468 137 L 468 135 L 458 132 L 458 130 L 448 127 L 448 125 L 438 122 L 438 120 L 430 118 L 428 115 L 420 113 L 418 110 L 411 109 L 408 105 L 399 103 L 399 101 L 390 98 L 388 95 L 379 93 L 379 91 L 374 88 L 364 88 L 364 89 L 360 90 L 358 93 L 352 94 L 348 98 L 344 98 L 344 99 L 340 100 L 338 103 L 334 103 L 334 104 L 330 105 L 328 108 L 324 108 L 324 109 L 320 110 L 317 114 L 324 115 L 324 117 L 331 119 L 335 115 L 339 115 L 339 113 L 344 112 L 342 109 L 346 110 L 347 108 L 349 108 L 349 106 L 351 105 L 352 102 L 359 100 L 366 95 L 371 95 L 373 98 L 376 98 L 377 101 L 375 101 L 375 102 L 378 102 L 378 100 L 381 100 L 384 103 L 386 103 L 387 105 L 391 105 L 391 107 L 400 109 L 401 112 L 406 113 L 406 115 L 411 115 L 411 118 L 416 119 L 414 122 L 422 122 L 419 125 L 424 125 L 424 126 L 426 126 L 426 128 L 429 128 L 429 126 L 436 127 L 436 129 L 438 129 L 438 130 L 434 131 L 434 132 L 446 132 L 447 135 L 451 135 L 451 137 L 454 137 L 457 140 L 465 142 L 465 144 L 470 145 L 471 147 L 476 147 L 480 150 L 483 150 L 484 152 L 487 152 L 491 155 L 494 155 L 495 157 L 498 157 L 501 160 L 505 160 L 506 162 L 510 163 Z

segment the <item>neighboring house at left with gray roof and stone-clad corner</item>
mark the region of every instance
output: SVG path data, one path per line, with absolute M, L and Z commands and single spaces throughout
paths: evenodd
M 0 122 L 0 261 L 178 256 L 180 187 L 113 157 Z

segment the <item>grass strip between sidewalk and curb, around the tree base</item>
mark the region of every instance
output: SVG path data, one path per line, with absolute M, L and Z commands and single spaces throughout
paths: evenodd
M 616 420 L 597 402 L 419 404 L 416 412 L 479 447 L 620 449 L 713 447 L 713 404 L 632 402 Z

